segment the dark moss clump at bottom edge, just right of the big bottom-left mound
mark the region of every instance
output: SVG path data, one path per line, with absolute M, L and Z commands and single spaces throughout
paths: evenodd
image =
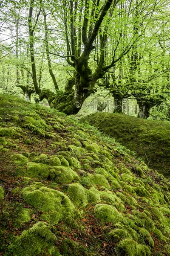
M 88 256 L 87 248 L 83 244 L 68 238 L 62 241 L 61 249 L 65 256 Z

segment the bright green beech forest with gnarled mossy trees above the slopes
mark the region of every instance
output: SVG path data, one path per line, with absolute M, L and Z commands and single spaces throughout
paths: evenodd
M 99 111 L 111 102 L 115 113 L 169 120 L 168 1 L 3 0 L 0 8 L 1 93 L 67 115 L 94 100 Z

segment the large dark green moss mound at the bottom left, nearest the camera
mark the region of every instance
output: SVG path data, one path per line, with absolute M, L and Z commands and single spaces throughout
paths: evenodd
M 51 232 L 52 227 L 45 222 L 34 224 L 29 230 L 24 230 L 14 242 L 14 256 L 38 256 L 45 249 L 48 249 L 48 255 L 51 255 L 52 244 L 56 236 Z

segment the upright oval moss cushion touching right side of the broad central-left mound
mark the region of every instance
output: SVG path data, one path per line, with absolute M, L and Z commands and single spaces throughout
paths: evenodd
M 72 202 L 79 207 L 88 204 L 85 188 L 79 183 L 72 183 L 68 186 L 68 195 Z

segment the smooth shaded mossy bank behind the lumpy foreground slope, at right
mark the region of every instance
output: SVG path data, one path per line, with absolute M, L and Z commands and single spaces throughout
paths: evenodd
M 84 121 L 135 151 L 150 168 L 170 176 L 170 122 L 117 113 L 94 113 L 83 117 L 81 122 Z

